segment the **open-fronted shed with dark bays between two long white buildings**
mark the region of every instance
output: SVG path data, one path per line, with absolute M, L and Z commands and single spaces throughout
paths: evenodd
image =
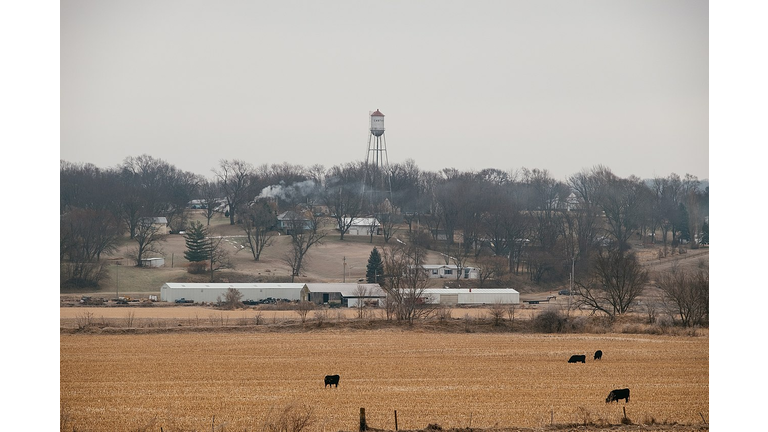
M 301 290 L 301 299 L 316 304 L 339 304 L 356 307 L 360 301 L 379 306 L 386 298 L 378 284 L 308 283 Z

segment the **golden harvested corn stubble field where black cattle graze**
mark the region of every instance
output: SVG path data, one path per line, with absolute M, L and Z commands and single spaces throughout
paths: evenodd
M 62 426 L 78 431 L 263 430 L 311 414 L 308 431 L 700 424 L 707 337 L 305 333 L 62 334 Z M 596 350 L 602 360 L 593 360 Z M 569 364 L 572 354 L 586 363 Z M 341 376 L 338 388 L 323 377 Z M 606 404 L 629 388 L 629 403 Z M 283 413 L 292 407 L 293 414 Z

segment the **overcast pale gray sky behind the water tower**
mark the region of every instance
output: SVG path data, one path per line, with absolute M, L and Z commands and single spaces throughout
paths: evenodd
M 61 159 L 709 178 L 708 2 L 61 2 Z

